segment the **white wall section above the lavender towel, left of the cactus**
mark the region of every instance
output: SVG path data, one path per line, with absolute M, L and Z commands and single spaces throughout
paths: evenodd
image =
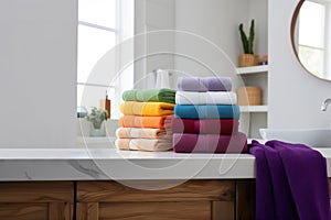
M 175 56 L 172 77 L 228 76 L 234 88 L 243 86 L 235 75 L 242 43 L 238 24 L 248 19 L 248 0 L 175 1 Z

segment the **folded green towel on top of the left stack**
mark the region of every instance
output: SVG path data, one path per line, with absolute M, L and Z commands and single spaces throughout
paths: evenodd
M 172 89 L 131 89 L 122 92 L 124 101 L 158 101 L 174 103 L 175 90 Z

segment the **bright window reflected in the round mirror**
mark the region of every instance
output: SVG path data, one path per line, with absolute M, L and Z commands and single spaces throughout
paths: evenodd
M 325 73 L 325 6 L 306 1 L 300 9 L 298 55 L 305 67 L 318 75 Z

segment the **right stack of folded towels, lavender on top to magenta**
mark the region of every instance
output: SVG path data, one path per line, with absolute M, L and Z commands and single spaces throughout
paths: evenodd
M 229 77 L 180 77 L 172 119 L 175 152 L 247 152 Z

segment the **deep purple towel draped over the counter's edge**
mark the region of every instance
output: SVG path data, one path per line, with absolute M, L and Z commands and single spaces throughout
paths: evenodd
M 256 219 L 330 220 L 327 161 L 303 144 L 253 141 Z

